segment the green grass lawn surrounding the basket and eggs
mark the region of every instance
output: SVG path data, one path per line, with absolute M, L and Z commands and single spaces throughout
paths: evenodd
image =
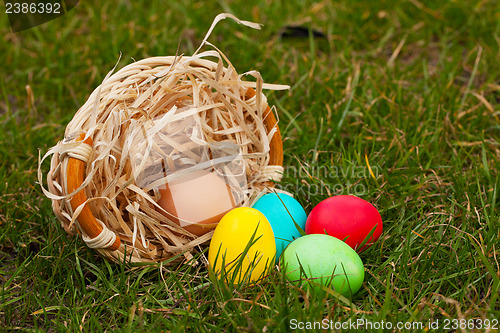
M 0 14 L 0 330 L 284 332 L 292 319 L 500 318 L 496 1 L 102 3 L 81 1 L 17 34 Z M 39 151 L 62 138 L 120 52 L 119 67 L 173 55 L 179 39 L 191 54 L 223 11 L 263 29 L 224 21 L 210 41 L 239 72 L 292 87 L 268 94 L 289 167 L 280 186 L 308 212 L 353 193 L 382 215 L 352 300 L 306 293 L 278 271 L 226 288 L 205 267 L 108 263 L 64 234 L 36 183 Z M 326 37 L 279 38 L 297 24 Z

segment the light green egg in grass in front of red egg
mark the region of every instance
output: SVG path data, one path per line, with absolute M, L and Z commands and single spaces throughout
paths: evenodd
M 354 295 L 363 284 L 365 271 L 359 255 L 343 241 L 328 235 L 306 235 L 285 249 L 281 265 L 286 278 L 301 286 L 332 288 Z

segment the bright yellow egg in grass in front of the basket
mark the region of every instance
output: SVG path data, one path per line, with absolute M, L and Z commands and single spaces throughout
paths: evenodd
M 273 229 L 264 214 L 239 207 L 224 215 L 215 228 L 208 262 L 218 277 L 223 272 L 226 281 L 252 282 L 267 275 L 275 256 Z

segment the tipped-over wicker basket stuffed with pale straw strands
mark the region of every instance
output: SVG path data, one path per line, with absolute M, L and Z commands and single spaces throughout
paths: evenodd
M 213 27 L 226 17 L 258 28 L 231 15 L 219 15 L 201 46 L 209 44 L 206 40 Z M 269 108 L 262 89 L 286 86 L 265 84 L 255 71 L 238 74 L 215 47 L 197 52 L 147 58 L 114 74 L 111 71 L 68 124 L 64 140 L 40 160 L 42 190 L 52 200 L 64 230 L 81 235 L 89 247 L 109 259 L 189 260 L 212 237 L 213 231 L 197 236 L 159 212 L 158 184 L 167 182 L 171 174 L 139 181 L 141 172 L 152 167 L 141 162 L 154 161 L 147 157 L 155 149 L 169 146 L 170 156 L 184 154 L 189 158 L 183 161 L 190 167 L 207 159 L 201 153 L 188 156 L 196 151 L 193 147 L 173 147 L 161 132 L 175 130 L 169 126 L 183 126 L 183 120 L 189 119 L 196 129 L 193 140 L 201 147 L 217 143 L 238 147 L 244 170 L 244 182 L 241 174 L 239 183 L 235 182 L 243 184 L 236 186 L 241 195 L 238 205 L 250 205 L 281 178 L 281 137 L 274 108 Z M 255 81 L 244 80 L 248 76 Z M 41 166 L 48 157 L 50 171 L 43 175 Z

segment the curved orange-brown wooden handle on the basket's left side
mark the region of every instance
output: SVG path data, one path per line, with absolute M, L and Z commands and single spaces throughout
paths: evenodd
M 83 141 L 83 139 L 85 139 L 85 134 L 81 134 L 76 141 Z M 83 143 L 92 146 L 93 141 L 91 138 L 87 138 L 83 141 Z M 66 181 L 68 193 L 72 193 L 82 185 L 85 179 L 85 162 L 74 157 L 69 157 L 66 174 L 68 175 Z M 79 206 L 84 204 L 85 201 L 87 201 L 87 196 L 85 195 L 85 191 L 81 189 L 70 199 L 69 202 L 71 208 L 75 211 Z M 82 230 L 89 236 L 90 239 L 96 238 L 103 231 L 102 225 L 97 222 L 88 204 L 85 204 L 82 211 L 78 215 L 77 220 Z M 117 250 L 120 247 L 120 244 L 120 238 L 116 235 L 115 242 L 106 249 L 110 251 Z

